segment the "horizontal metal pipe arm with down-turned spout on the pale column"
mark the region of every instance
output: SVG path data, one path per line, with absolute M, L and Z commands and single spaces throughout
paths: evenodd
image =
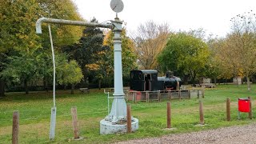
M 38 21 L 36 22 L 37 34 L 42 34 L 42 22 L 73 25 L 73 26 L 90 26 L 90 27 L 102 27 L 102 28 L 109 28 L 109 29 L 114 28 L 114 26 L 111 23 L 101 24 L 96 22 L 70 21 L 70 20 L 55 19 L 55 18 L 39 18 Z

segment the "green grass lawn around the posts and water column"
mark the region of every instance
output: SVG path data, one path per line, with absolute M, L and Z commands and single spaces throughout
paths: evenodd
M 246 85 L 221 85 L 206 90 L 202 99 L 206 126 L 199 123 L 198 98 L 173 100 L 172 126 L 174 131 L 166 128 L 166 101 L 132 103 L 132 115 L 139 120 L 139 129 L 133 134 L 99 134 L 99 122 L 106 117 L 107 99 L 103 90 L 90 90 L 90 94 L 69 94 L 61 90 L 56 94 L 57 125 L 54 141 L 49 140 L 50 109 L 53 105 L 52 94 L 45 92 L 7 93 L 0 98 L 0 143 L 10 143 L 12 138 L 12 114 L 20 114 L 20 143 L 112 143 L 134 138 L 159 137 L 164 134 L 186 133 L 209 130 L 224 126 L 243 125 L 255 122 L 248 114 L 242 113 L 238 120 L 238 98 L 251 96 L 253 113 L 256 116 L 256 85 L 248 92 Z M 231 99 L 231 121 L 226 122 L 226 98 Z M 77 106 L 79 133 L 84 139 L 73 140 L 73 128 L 70 109 Z

